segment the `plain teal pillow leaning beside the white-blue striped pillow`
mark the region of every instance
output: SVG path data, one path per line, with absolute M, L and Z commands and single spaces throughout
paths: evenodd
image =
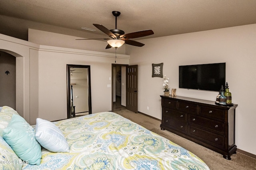
M 41 146 L 36 141 L 34 129 L 20 115 L 12 115 L 12 119 L 3 131 L 4 140 L 12 147 L 20 159 L 29 164 L 41 163 Z

